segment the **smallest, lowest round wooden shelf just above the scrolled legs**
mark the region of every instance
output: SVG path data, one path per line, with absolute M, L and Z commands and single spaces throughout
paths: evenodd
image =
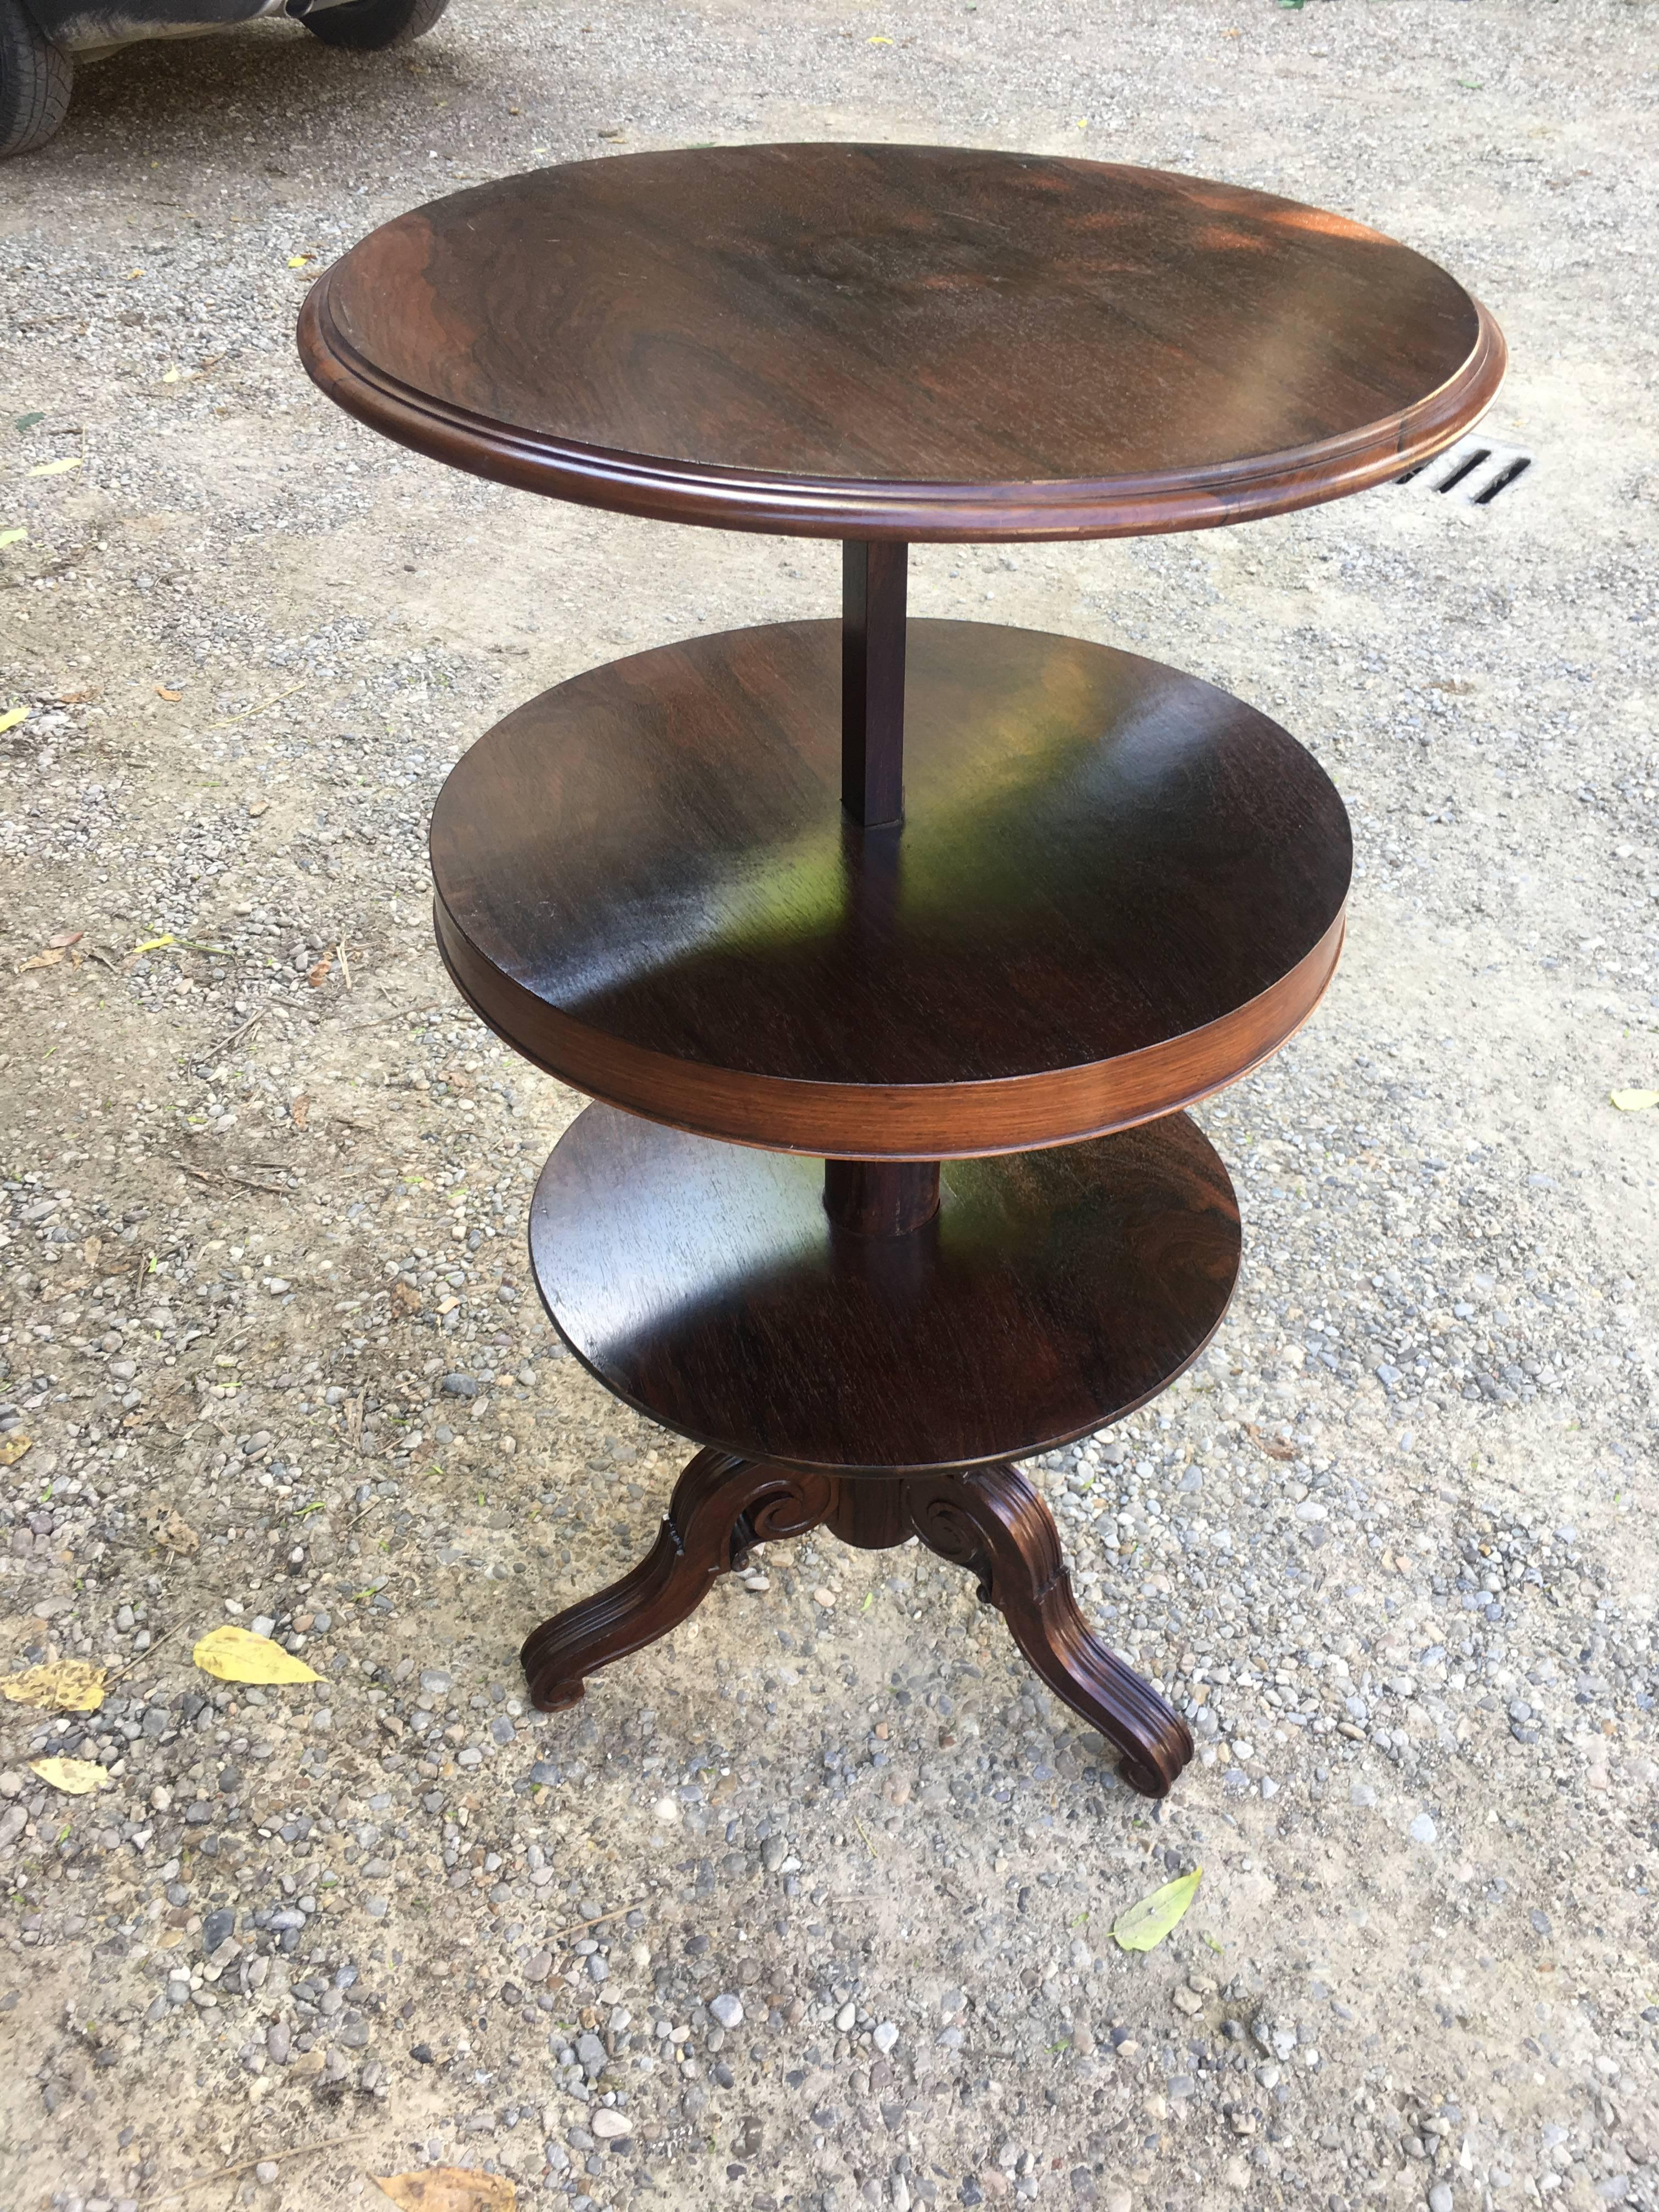
M 588 1106 L 531 1208 L 575 1356 L 653 1420 L 836 1473 L 980 1467 L 1155 1398 L 1239 1274 L 1228 1170 L 1186 1115 L 947 1161 L 940 1210 L 858 1237 L 823 1164 Z

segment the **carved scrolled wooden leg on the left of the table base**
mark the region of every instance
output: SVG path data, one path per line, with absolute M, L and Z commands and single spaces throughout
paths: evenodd
M 750 1544 L 805 1535 L 827 1511 L 825 1475 L 699 1451 L 675 1484 L 657 1542 L 639 1566 L 524 1639 L 520 1661 L 531 1703 L 540 1712 L 575 1705 L 586 1674 L 679 1628 L 714 1577 L 741 1566 Z

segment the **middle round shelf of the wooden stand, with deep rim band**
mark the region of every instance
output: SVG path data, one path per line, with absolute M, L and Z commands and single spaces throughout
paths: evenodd
M 440 951 L 577 1091 L 774 1150 L 951 1159 L 1172 1113 L 1336 967 L 1347 814 L 1274 721 L 1157 661 L 911 622 L 905 821 L 841 812 L 841 624 L 593 668 L 431 825 Z

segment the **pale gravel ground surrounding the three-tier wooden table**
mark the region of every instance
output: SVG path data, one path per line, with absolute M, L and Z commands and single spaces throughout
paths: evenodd
M 1624 0 L 456 0 L 117 55 L 4 170 L 0 1672 L 113 1679 L 0 1705 L 0 2203 L 1659 2205 L 1657 86 Z M 805 135 L 1294 192 L 1513 345 L 1491 507 L 914 564 L 1281 714 L 1358 830 L 1336 989 L 1201 1115 L 1228 1325 L 1037 1467 L 1192 1714 L 1161 1809 L 916 1548 L 776 1546 L 520 1697 L 684 1447 L 540 1314 L 577 1102 L 456 1004 L 422 825 L 529 690 L 836 560 L 418 462 L 292 319 L 456 179 Z M 323 1681 L 210 1681 L 226 1619 Z

